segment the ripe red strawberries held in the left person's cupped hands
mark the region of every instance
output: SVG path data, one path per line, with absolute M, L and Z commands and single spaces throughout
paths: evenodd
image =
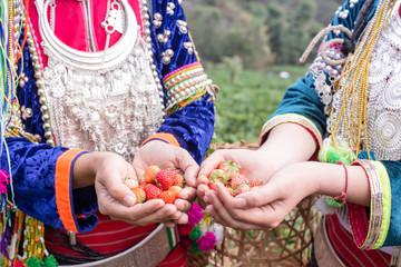
M 135 194 L 136 204 L 150 199 L 163 199 L 165 204 L 174 204 L 184 188 L 184 177 L 173 170 L 162 170 L 160 167 L 150 165 L 140 182 L 126 178 L 124 184 Z

